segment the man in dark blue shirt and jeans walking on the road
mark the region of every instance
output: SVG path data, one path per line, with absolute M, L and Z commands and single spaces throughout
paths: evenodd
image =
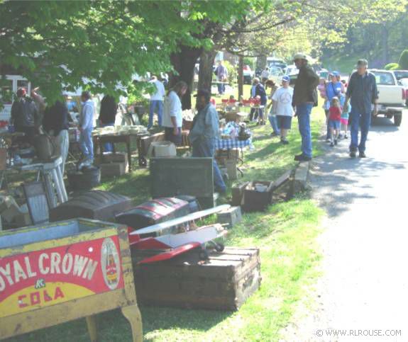
M 367 71 L 368 62 L 360 59 L 357 62 L 357 71 L 351 74 L 346 92 L 344 109 L 348 108 L 348 100 L 351 100 L 351 144 L 350 156 L 365 158 L 365 142 L 371 123 L 371 106 L 374 105 L 374 115 L 377 115 L 377 82 L 375 76 Z M 358 144 L 358 130 L 361 130 L 360 144 Z

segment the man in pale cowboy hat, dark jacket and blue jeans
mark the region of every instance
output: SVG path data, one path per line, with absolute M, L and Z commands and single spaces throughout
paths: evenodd
M 319 76 L 307 64 L 307 56 L 297 53 L 293 57 L 294 64 L 299 69 L 294 84 L 292 105 L 296 108 L 299 132 L 302 136 L 302 153 L 295 156 L 296 161 L 311 160 L 311 130 L 310 113 L 313 106 L 317 106 L 317 90 Z

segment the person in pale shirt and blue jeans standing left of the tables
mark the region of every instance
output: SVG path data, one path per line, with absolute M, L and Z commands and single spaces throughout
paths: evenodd
M 92 130 L 94 129 L 94 101 L 91 100 L 89 91 L 82 92 L 82 110 L 79 117 L 79 130 L 81 137 L 79 144 L 82 154 L 87 161 L 87 164 L 94 162 L 94 143 L 92 142 Z

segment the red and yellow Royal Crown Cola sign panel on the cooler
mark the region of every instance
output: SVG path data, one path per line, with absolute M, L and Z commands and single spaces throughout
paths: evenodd
M 0 318 L 123 288 L 118 236 L 0 258 Z

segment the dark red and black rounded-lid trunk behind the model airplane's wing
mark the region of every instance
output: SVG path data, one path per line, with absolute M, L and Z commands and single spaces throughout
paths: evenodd
M 189 203 L 179 198 L 157 198 L 116 215 L 116 222 L 140 229 L 190 213 Z

